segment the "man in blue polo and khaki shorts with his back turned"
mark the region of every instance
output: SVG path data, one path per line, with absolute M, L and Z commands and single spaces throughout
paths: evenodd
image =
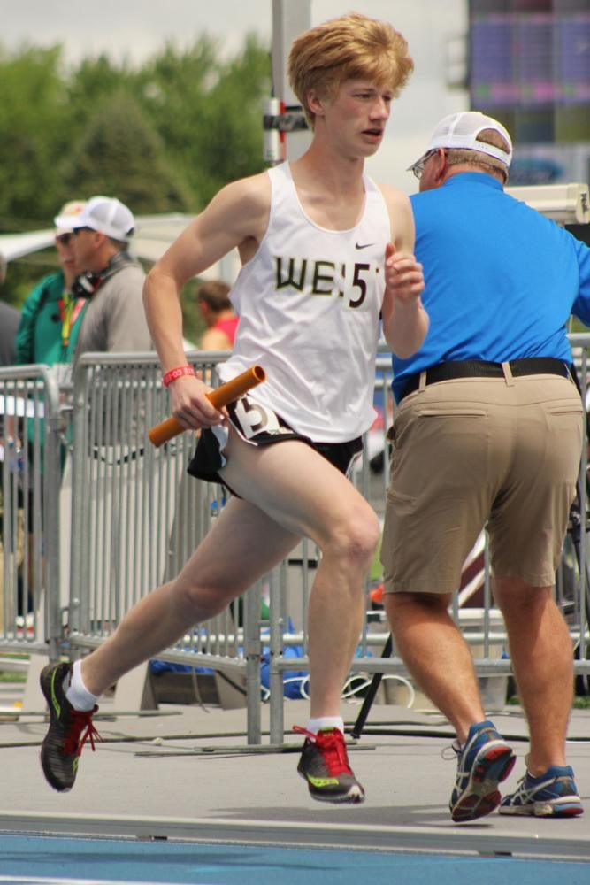
M 393 359 L 384 598 L 397 652 L 456 728 L 456 821 L 494 811 L 515 761 L 448 613 L 485 524 L 531 737 L 525 777 L 500 811 L 582 812 L 565 761 L 571 641 L 552 591 L 582 445 L 565 322 L 590 320 L 590 250 L 504 193 L 511 157 L 500 123 L 464 112 L 441 120 L 410 167 L 431 323 L 420 350 Z

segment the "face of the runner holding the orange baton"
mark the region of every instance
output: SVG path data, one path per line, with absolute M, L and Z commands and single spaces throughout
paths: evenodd
M 392 90 L 370 80 L 346 80 L 326 99 L 326 127 L 363 157 L 379 148 L 389 119 Z

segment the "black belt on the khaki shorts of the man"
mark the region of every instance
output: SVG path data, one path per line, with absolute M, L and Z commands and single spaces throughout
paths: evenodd
M 526 359 L 512 359 L 509 364 L 510 372 L 515 377 L 523 375 L 562 375 L 570 377 L 570 369 L 561 359 L 553 357 L 529 357 Z M 436 384 L 437 381 L 452 381 L 454 378 L 503 378 L 504 370 L 502 363 L 491 363 L 485 359 L 464 359 L 440 363 L 426 369 L 426 384 Z M 402 389 L 402 396 L 418 390 L 420 384 L 420 372 L 410 375 Z

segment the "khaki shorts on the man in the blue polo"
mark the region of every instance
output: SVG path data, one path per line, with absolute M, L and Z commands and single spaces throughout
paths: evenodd
M 386 593 L 452 593 L 487 524 L 495 577 L 555 583 L 582 404 L 556 375 L 461 378 L 402 400 L 381 558 Z

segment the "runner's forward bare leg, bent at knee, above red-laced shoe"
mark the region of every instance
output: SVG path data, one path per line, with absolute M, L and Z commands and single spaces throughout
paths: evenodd
M 379 520 L 349 480 L 306 443 L 256 448 L 230 435 L 227 448 L 228 485 L 256 496 L 277 523 L 321 550 L 308 613 L 310 716 L 338 716 L 363 624 L 363 583 Z

